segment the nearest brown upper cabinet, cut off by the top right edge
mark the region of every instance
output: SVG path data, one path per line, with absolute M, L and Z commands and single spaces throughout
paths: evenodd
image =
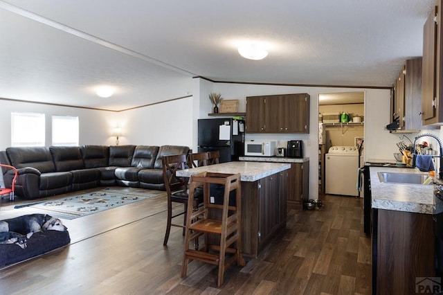
M 423 86 L 422 120 L 423 125 L 443 123 L 443 30 L 442 1 L 435 1 L 431 14 L 426 19 L 423 32 Z

